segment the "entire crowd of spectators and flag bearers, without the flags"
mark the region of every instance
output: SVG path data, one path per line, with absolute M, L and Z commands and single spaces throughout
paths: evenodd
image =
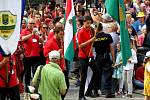
M 88 8 L 84 0 L 74 2 L 77 25 L 74 64 L 64 58 L 65 6 L 51 0 L 26 8 L 16 52 L 6 55 L 0 48 L 0 99 L 20 100 L 20 94 L 29 93 L 28 86 L 36 84 L 38 66 L 44 65 L 38 89 L 42 100 L 64 100 L 70 70 L 77 74 L 78 100 L 100 95 L 132 98 L 134 89 L 144 89 L 145 100 L 150 100 L 150 53 L 147 52 L 150 50 L 150 1 L 125 1 L 132 53 L 126 66 L 122 65 L 119 23 L 107 13 L 104 0 L 96 0 Z M 147 51 L 140 54 L 139 48 Z M 139 61 L 138 55 L 146 55 L 146 59 Z M 93 75 L 85 91 L 88 67 Z

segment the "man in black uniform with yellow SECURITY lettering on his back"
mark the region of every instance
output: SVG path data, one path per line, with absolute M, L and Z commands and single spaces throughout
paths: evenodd
M 102 29 L 102 24 L 99 23 L 93 46 L 95 47 L 96 66 L 100 71 L 100 79 L 104 76 L 106 98 L 112 98 L 115 97 L 115 95 L 111 93 L 113 72 L 112 64 L 115 62 L 114 48 L 112 47 L 113 40 L 111 35 L 102 32 Z

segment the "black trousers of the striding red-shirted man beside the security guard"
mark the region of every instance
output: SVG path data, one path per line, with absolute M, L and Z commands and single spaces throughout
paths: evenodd
M 84 96 L 84 90 L 85 90 L 85 82 L 87 78 L 87 69 L 88 66 L 92 69 L 93 71 L 93 76 L 90 81 L 90 84 L 88 86 L 87 92 L 90 92 L 91 90 L 98 89 L 98 84 L 99 84 L 99 72 L 98 69 L 95 66 L 94 59 L 92 59 L 91 63 L 89 63 L 89 59 L 83 59 L 79 58 L 79 63 L 80 63 L 80 72 L 81 72 L 81 84 L 80 84 L 80 89 L 79 89 L 79 97 Z

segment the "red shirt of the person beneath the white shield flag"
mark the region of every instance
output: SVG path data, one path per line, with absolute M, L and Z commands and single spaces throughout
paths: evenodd
M 1 55 L 1 54 L 0 54 Z M 1 55 L 2 56 L 2 55 Z M 14 60 L 14 57 L 12 56 L 12 60 Z M 2 59 L 1 59 L 2 61 Z M 6 64 L 3 64 L 1 66 L 1 69 L 0 69 L 0 87 L 6 87 L 6 67 L 8 67 L 8 73 L 10 73 L 10 63 L 7 62 Z M 2 79 L 3 77 L 3 79 Z M 9 80 L 9 87 L 14 87 L 16 85 L 19 84 L 19 81 L 18 81 L 18 78 L 17 78 L 17 74 L 16 74 L 16 65 L 15 65 L 15 62 L 12 66 L 12 73 L 10 75 L 10 80 Z

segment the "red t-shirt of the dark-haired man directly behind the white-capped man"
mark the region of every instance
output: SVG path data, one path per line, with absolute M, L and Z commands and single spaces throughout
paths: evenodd
M 61 43 L 56 40 L 55 36 L 53 36 L 50 40 L 48 40 L 44 45 L 44 56 L 47 57 L 46 63 L 49 63 L 49 52 L 53 50 L 59 50 L 61 49 Z M 65 59 L 63 53 L 61 54 L 61 65 L 60 65 L 62 71 L 65 70 Z

